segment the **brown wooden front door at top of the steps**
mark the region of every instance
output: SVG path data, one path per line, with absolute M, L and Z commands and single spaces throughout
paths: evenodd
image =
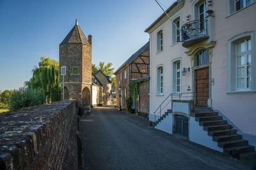
M 209 67 L 196 69 L 196 106 L 207 107 L 209 98 Z

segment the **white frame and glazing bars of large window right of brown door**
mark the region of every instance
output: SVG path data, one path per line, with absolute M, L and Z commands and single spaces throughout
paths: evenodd
M 246 51 L 244 52 L 240 52 L 240 53 L 237 53 L 237 45 L 239 43 L 245 43 L 245 48 L 246 48 Z M 248 50 L 248 39 L 244 39 L 243 41 L 239 41 L 236 43 L 236 90 L 250 90 L 251 87 L 247 87 L 247 78 L 251 78 L 251 82 L 252 82 L 252 71 L 251 71 L 251 76 L 248 76 L 247 74 L 247 69 L 248 67 L 251 67 L 252 68 L 252 60 L 251 60 L 251 64 L 248 64 L 248 55 L 251 55 L 251 59 L 252 59 L 252 40 L 250 39 L 250 43 L 251 43 L 251 49 Z M 237 66 L 237 59 L 238 57 L 241 57 L 241 59 L 244 57 L 244 66 Z M 237 69 L 239 68 L 243 68 L 244 69 L 244 76 L 241 76 L 241 77 L 237 77 Z M 237 87 L 237 80 L 238 79 L 244 79 L 244 87 L 243 88 L 238 88 Z M 250 84 L 251 86 L 251 84 Z

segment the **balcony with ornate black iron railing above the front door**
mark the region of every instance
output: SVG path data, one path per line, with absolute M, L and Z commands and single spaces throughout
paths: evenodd
M 182 25 L 182 46 L 189 47 L 208 39 L 207 20 L 193 20 Z

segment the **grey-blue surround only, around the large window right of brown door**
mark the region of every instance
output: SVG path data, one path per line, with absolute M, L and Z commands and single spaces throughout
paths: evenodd
M 238 90 L 236 82 L 236 44 L 251 39 L 251 88 Z M 227 94 L 256 92 L 255 90 L 255 31 L 243 32 L 228 40 L 228 75 L 227 75 Z

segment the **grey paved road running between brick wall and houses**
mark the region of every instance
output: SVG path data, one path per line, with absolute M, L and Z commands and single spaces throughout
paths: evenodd
M 93 109 L 80 128 L 84 169 L 253 169 L 256 162 L 230 159 L 110 107 Z

